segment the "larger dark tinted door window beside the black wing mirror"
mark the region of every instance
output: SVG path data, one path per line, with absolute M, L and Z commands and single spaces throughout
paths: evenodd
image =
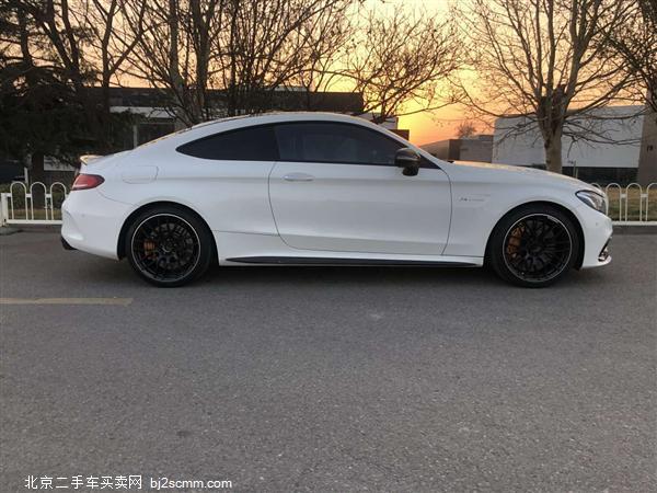
M 293 123 L 276 126 L 283 161 L 394 165 L 402 144 L 357 125 Z

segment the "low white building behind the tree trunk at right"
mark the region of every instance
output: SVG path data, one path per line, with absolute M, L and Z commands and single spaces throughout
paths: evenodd
M 657 176 L 657 130 L 645 107 L 609 106 L 575 121 L 593 140 L 562 139 L 564 174 L 590 183 L 643 184 Z M 515 131 L 521 128 L 521 133 Z M 543 140 L 535 124 L 525 116 L 498 118 L 493 137 L 494 163 L 545 168 Z M 639 176 L 639 163 L 642 173 Z

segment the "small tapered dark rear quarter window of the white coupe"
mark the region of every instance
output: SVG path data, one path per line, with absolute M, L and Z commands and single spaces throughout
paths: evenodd
M 228 161 L 276 161 L 278 149 L 270 126 L 240 128 L 204 137 L 176 149 L 201 159 Z

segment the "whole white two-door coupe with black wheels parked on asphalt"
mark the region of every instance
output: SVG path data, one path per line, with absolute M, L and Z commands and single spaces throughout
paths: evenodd
M 362 118 L 280 113 L 197 125 L 87 160 L 65 246 L 158 286 L 219 265 L 488 264 L 539 287 L 611 261 L 604 196 L 539 170 L 436 159 Z

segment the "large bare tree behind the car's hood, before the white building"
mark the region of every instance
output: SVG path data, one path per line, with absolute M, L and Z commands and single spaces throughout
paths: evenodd
M 507 135 L 538 127 L 550 171 L 562 172 L 562 137 L 604 139 L 586 125 L 591 110 L 626 95 L 630 79 L 610 33 L 632 0 L 473 0 L 463 12 L 471 39 L 476 112 L 520 115 Z

